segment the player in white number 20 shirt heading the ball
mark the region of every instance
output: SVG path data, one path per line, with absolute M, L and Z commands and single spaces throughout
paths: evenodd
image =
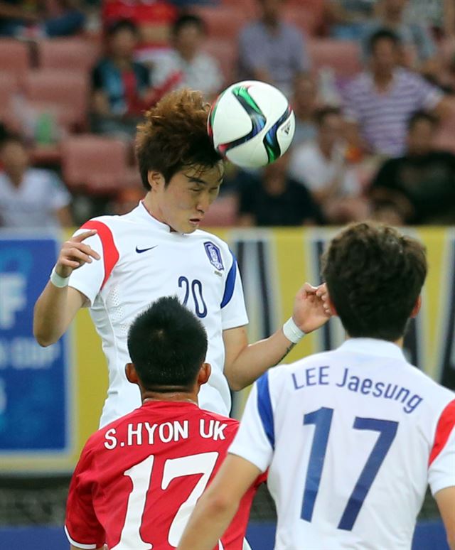
M 102 426 L 141 404 L 139 389 L 124 375 L 127 332 L 161 296 L 178 296 L 207 330 L 212 374 L 200 406 L 226 416 L 230 388 L 254 382 L 328 319 L 323 287 L 305 284 L 283 328 L 248 344 L 237 261 L 222 239 L 198 229 L 224 174 L 207 118 L 208 105 L 191 90 L 172 92 L 146 112 L 136 145 L 144 200 L 126 215 L 82 225 L 63 244 L 36 302 L 33 330 L 41 345 L 55 343 L 77 311 L 90 308 L 109 368 Z

